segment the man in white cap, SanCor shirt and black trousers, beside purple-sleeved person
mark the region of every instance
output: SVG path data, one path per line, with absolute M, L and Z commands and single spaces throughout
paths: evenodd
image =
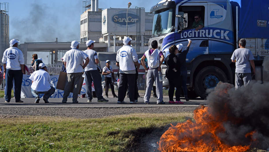
M 134 100 L 134 85 L 135 84 L 135 67 L 138 66 L 138 58 L 135 50 L 131 47 L 129 37 L 123 39 L 123 46 L 118 50 L 116 57 L 116 65 L 119 67 L 119 89 L 118 102 L 124 103 L 127 85 L 129 87 L 130 103 L 136 103 Z

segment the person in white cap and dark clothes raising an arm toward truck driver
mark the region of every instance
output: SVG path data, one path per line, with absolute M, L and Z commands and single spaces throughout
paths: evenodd
M 189 52 L 189 47 L 191 46 L 191 40 L 188 39 L 189 44 L 187 45 L 186 49 L 182 51 L 183 44 L 178 44 L 176 47 L 178 48 L 177 61 L 180 65 L 180 78 L 181 78 L 181 85 L 184 92 L 185 100 L 189 101 L 188 98 L 188 89 L 187 89 L 187 65 L 186 65 L 186 57 L 187 53 Z

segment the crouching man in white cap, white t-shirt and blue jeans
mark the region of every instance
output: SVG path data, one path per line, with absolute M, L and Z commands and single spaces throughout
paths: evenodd
M 39 70 L 35 71 L 29 77 L 32 80 L 31 93 L 36 98 L 35 103 L 39 103 L 39 94 L 44 94 L 43 100 L 45 103 L 49 103 L 48 99 L 54 94 L 55 88 L 50 86 L 50 76 L 47 72 L 47 67 L 44 63 L 39 64 Z

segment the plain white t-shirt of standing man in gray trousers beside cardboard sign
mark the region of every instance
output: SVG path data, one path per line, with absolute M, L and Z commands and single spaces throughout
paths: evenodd
M 66 62 L 67 73 L 79 73 L 83 72 L 83 59 L 88 57 L 86 53 L 78 49 L 71 49 L 65 53 L 62 57 L 63 61 Z

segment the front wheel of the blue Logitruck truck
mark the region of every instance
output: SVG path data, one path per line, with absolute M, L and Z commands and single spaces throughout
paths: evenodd
M 201 98 L 206 98 L 206 89 L 214 88 L 218 82 L 228 82 L 222 69 L 214 66 L 205 67 L 195 78 L 194 90 Z

